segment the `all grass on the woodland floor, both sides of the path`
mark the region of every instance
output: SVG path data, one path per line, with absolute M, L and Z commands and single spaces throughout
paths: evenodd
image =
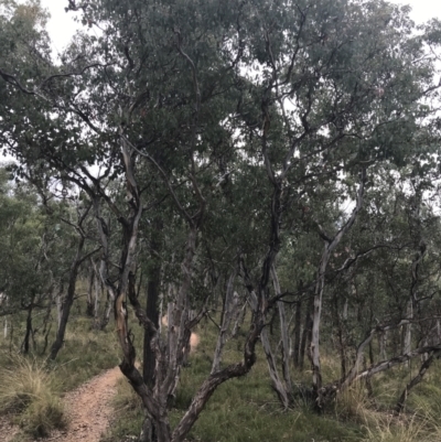
M 53 428 L 62 428 L 65 424 L 63 394 L 119 363 L 112 323 L 105 332 L 92 330 L 90 324 L 89 319 L 73 315 L 65 345 L 53 364 L 47 364 L 45 356 L 39 355 L 42 337 L 36 336 L 36 351 L 26 357 L 18 355 L 19 341 L 10 347 L 9 342 L 0 338 L 0 412 L 12 413 L 14 422 L 21 427 L 17 441 L 31 441 L 31 438 L 47 434 Z M 133 325 L 132 331 L 140 355 L 142 330 Z M 196 332 L 201 342 L 190 357 L 190 366 L 182 370 L 174 408 L 170 412 L 172 427 L 180 421 L 211 370 L 215 327 L 211 322 L 203 322 Z M 17 339 L 22 335 L 18 324 Z M 53 335 L 49 342 L 52 338 Z M 243 332 L 237 339 L 227 342 L 224 365 L 241 359 L 244 341 Z M 338 363 L 331 352 L 323 351 L 322 364 L 324 382 L 338 377 Z M 318 416 L 301 396 L 291 410 L 280 408 L 259 347 L 252 370 L 244 378 L 223 384 L 215 391 L 186 441 L 439 442 L 441 362 L 435 362 L 424 381 L 411 391 L 405 413 L 397 418 L 390 412 L 418 365 L 416 362 L 410 373 L 396 367 L 376 376 L 372 382 L 375 400 L 366 384 L 358 382 L 341 394 L 324 414 Z M 294 385 L 308 386 L 311 373 L 293 370 L 292 378 Z M 139 434 L 144 418 L 141 403 L 125 379 L 118 384 L 114 407 L 115 421 L 101 442 L 120 442 L 128 435 Z

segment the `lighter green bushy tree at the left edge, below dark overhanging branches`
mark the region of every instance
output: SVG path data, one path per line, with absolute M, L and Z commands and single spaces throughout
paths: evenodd
M 0 169 L 0 315 L 9 316 L 10 324 L 13 324 L 14 319 L 21 317 L 21 312 L 25 312 L 21 348 L 29 353 L 31 344 L 35 344 L 34 333 L 37 328 L 33 323 L 34 312 L 46 310 L 52 302 L 55 269 L 47 256 L 53 255 L 56 259 L 56 254 L 53 254 L 56 233 L 39 206 L 35 192 L 25 184 L 20 187 L 13 185 L 8 181 L 9 176 L 7 169 Z M 47 321 L 46 315 L 44 317 L 43 326 Z

